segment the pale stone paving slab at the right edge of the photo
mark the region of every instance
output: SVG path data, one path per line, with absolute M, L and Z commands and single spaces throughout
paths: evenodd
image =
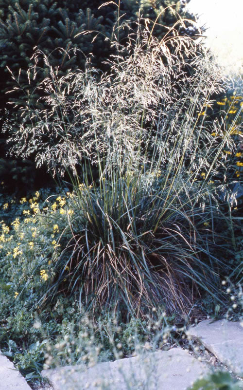
M 213 353 L 221 363 L 243 377 L 243 323 L 204 320 L 189 328 L 187 334 Z

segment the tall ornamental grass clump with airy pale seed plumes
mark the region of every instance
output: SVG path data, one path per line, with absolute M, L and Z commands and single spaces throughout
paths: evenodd
M 66 218 L 58 256 L 48 255 L 51 271 L 41 262 L 25 269 L 25 278 L 36 272 L 45 285 L 38 306 L 64 294 L 93 314 L 144 316 L 153 307 L 185 314 L 228 272 L 219 203 L 233 203 L 223 149 L 235 146 L 231 129 L 207 115 L 222 76 L 201 44 L 173 28 L 158 41 L 138 24 L 129 39 L 126 47 L 113 43 L 109 73 L 87 64 L 58 77 L 50 67 L 36 107 L 18 107 L 12 151 L 35 151 L 38 166 L 65 180 L 68 173 L 73 185 L 62 195 L 67 209 L 51 206 L 53 226 L 60 230 L 58 218 Z M 37 51 L 34 74 L 43 58 L 48 63 Z

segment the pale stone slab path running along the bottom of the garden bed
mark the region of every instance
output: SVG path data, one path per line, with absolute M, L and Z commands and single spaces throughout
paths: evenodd
M 243 322 L 204 320 L 189 328 L 187 335 L 198 343 L 198 354 L 176 347 L 145 353 L 142 357 L 99 363 L 88 369 L 67 366 L 44 370 L 42 375 L 51 385 L 34 389 L 98 390 L 102 383 L 108 382 L 107 390 L 186 390 L 200 375 L 215 367 L 243 379 Z M 0 375 L 0 390 L 31 389 L 3 355 L 0 355 Z

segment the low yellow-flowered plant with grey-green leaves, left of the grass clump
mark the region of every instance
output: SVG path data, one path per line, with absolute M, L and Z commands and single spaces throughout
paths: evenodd
M 18 301 L 28 297 L 35 286 L 36 299 L 32 301 L 35 306 L 43 291 L 43 283 L 51 282 L 58 271 L 54 269 L 63 241 L 66 245 L 71 237 L 67 225 L 74 218 L 76 196 L 69 197 L 64 192 L 56 197 L 50 190 L 41 190 L 34 196 L 9 204 L 13 207 L 13 210 L 8 209 L 9 225 L 0 221 L 0 260 L 8 270 L 5 278 Z M 12 222 L 11 211 L 18 215 Z M 5 213 L 6 207 L 2 206 L 0 212 Z M 68 267 L 66 269 L 68 271 Z

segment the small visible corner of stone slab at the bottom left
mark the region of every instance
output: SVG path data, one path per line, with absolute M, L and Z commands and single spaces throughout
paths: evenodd
M 0 352 L 0 390 L 31 390 L 10 360 Z

